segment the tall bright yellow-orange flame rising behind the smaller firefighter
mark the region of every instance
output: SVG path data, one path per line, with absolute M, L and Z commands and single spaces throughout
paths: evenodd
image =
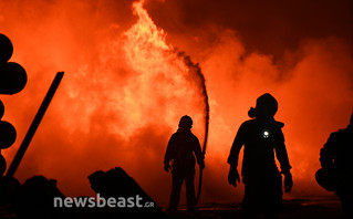
M 193 81 L 197 77 L 193 75 L 197 70 L 190 69 L 176 49 L 166 43 L 165 32 L 156 27 L 143 3 L 133 3 L 138 20 L 124 32 L 123 49 L 128 66 L 135 74 L 124 87 L 123 108 L 132 109 L 125 115 L 131 124 L 127 133 L 153 119 L 176 125 L 184 114 L 190 114 L 196 127 L 201 129 L 203 117 L 199 114 L 203 115 L 203 96 L 198 93 L 198 84 Z M 165 115 L 160 117 L 158 113 L 155 118 L 146 118 L 148 111 L 165 111 Z

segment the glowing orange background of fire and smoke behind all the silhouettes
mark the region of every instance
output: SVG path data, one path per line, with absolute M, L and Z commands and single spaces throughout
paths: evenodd
M 279 102 L 276 118 L 285 124 L 293 167 L 293 191 L 284 198 L 328 195 L 313 178 L 319 152 L 353 109 L 352 32 L 341 30 L 352 24 L 346 1 L 289 1 L 301 15 L 276 1 L 188 2 L 147 1 L 153 20 L 146 11 L 138 20 L 127 0 L 0 2 L 0 32 L 14 45 L 11 61 L 28 72 L 22 92 L 1 96 L 3 119 L 18 131 L 15 144 L 2 150 L 8 165 L 54 74 L 65 71 L 17 171 L 21 182 L 44 175 L 58 179 L 64 195 L 93 195 L 86 177 L 121 166 L 165 205 L 172 180 L 163 156 L 179 117 L 189 114 L 204 139 L 199 82 L 176 52 L 186 51 L 199 63 L 210 104 L 200 201 L 241 199 L 242 187 L 227 182 L 226 160 L 248 109 L 266 92 Z

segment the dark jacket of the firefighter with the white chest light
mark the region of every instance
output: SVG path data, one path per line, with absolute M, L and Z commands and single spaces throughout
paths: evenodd
M 238 166 L 239 152 L 245 145 L 242 176 L 251 177 L 278 171 L 274 152 L 282 173 L 288 173 L 291 166 L 281 129 L 283 126 L 283 123 L 274 119 L 261 121 L 255 118 L 242 123 L 233 140 L 228 164 Z

